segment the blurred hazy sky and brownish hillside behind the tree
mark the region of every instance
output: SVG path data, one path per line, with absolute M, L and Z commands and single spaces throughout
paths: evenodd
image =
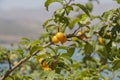
M 0 46 L 17 43 L 22 37 L 35 39 L 44 32 L 42 23 L 47 20 L 59 4 L 53 4 L 49 12 L 44 7 L 45 0 L 0 0 Z M 87 0 L 77 0 L 85 3 Z M 118 8 L 113 0 L 99 0 L 94 2 L 93 14 Z

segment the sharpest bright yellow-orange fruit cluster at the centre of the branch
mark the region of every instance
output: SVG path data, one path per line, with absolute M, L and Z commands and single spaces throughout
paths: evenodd
M 62 33 L 58 32 L 55 36 L 52 37 L 52 42 L 57 44 L 59 42 L 65 43 L 67 41 L 67 37 Z

